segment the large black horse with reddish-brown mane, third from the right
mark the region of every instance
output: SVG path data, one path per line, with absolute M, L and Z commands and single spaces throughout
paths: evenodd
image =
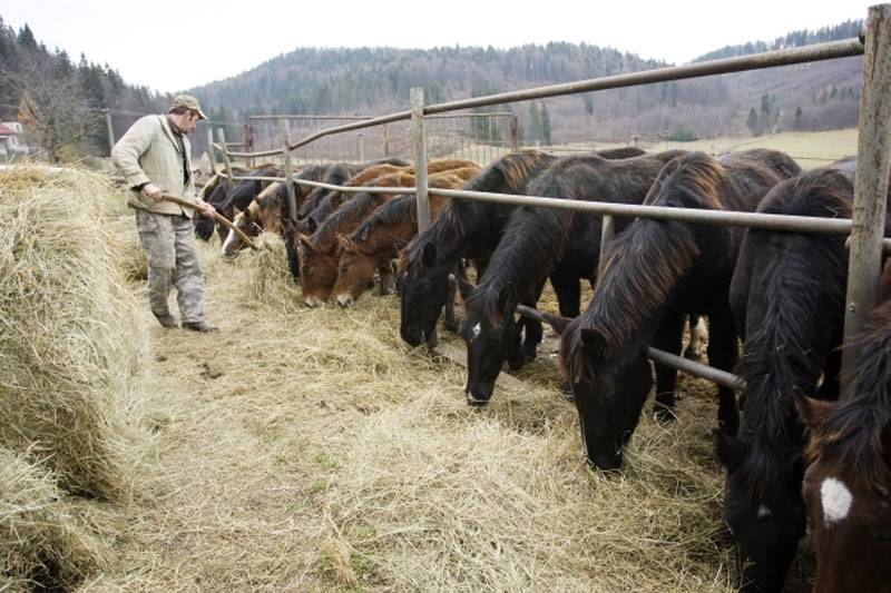
M 792 171 L 799 172 L 795 162 L 774 151 L 731 154 L 721 161 L 693 152 L 663 168 L 644 204 L 752 211 Z M 708 316 L 708 358 L 733 368 L 737 334 L 727 293 L 741 239 L 738 228 L 639 218 L 614 241 L 588 308 L 560 340 L 560 366 L 594 467 L 621 465 L 623 446 L 653 384 L 647 347 L 679 354 L 685 314 Z M 676 372 L 657 365 L 657 412 L 672 417 Z M 734 393 L 721 387 L 718 394 L 719 424 L 735 433 Z

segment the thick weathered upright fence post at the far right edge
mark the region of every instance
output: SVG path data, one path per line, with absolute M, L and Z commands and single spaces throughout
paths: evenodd
M 891 4 L 870 7 L 863 52 L 863 88 L 854 179 L 844 340 L 861 333 L 875 308 L 891 157 Z M 842 353 L 842 377 L 859 358 L 856 346 Z

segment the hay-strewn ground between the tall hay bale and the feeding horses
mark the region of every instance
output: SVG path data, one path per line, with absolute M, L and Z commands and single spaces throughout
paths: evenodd
M 648 403 L 625 472 L 597 475 L 552 336 L 474 409 L 462 368 L 400 340 L 398 297 L 265 303 L 249 255 L 200 253 L 221 332 L 145 310 L 154 441 L 117 561 L 85 591 L 733 590 L 708 384 L 682 378 L 669 426 Z

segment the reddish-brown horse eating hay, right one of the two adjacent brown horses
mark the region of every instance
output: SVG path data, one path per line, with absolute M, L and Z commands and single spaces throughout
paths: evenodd
M 476 165 L 456 170 L 431 174 L 430 187 L 453 189 L 464 184 L 480 171 Z M 431 195 L 430 217 L 435 220 L 449 204 L 448 198 Z M 414 194 L 400 196 L 384 204 L 349 237 L 340 235 L 340 260 L 334 296 L 341 307 L 349 307 L 374 284 L 375 269 L 390 266 L 390 260 L 399 254 L 412 237 L 418 234 L 418 201 Z

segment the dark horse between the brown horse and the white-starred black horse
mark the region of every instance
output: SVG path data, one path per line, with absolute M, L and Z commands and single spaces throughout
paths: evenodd
M 604 158 L 626 158 L 639 156 L 643 150 L 631 148 L 598 154 Z M 525 194 L 527 184 L 556 160 L 557 157 L 538 150 L 511 152 L 486 167 L 462 189 Z M 513 209 L 510 205 L 452 200 L 442 216 L 402 250 L 398 271 L 402 339 L 412 346 L 435 342 L 437 320 L 451 294 L 449 274 L 458 269 L 462 258 L 484 261 L 498 245 Z M 526 329 L 529 342 L 538 344 L 540 326 L 529 323 Z

